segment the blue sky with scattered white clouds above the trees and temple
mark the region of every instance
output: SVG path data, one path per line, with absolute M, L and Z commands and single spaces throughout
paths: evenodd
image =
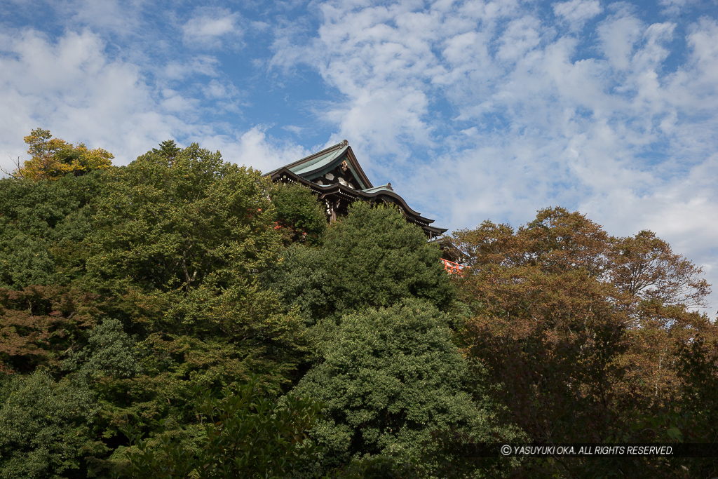
M 347 139 L 450 231 L 654 231 L 718 310 L 718 0 L 0 0 L 0 165 L 49 129 L 268 172 Z

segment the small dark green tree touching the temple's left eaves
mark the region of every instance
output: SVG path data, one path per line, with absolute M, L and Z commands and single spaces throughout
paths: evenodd
M 279 182 L 272 185 L 270 195 L 285 243 L 299 241 L 312 246 L 321 243 L 327 230 L 327 215 L 311 190 Z

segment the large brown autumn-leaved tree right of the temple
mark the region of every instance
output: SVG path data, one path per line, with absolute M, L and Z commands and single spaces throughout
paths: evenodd
M 689 434 L 678 419 L 686 348 L 718 338 L 689 310 L 709 293 L 699 268 L 649 231 L 613 238 L 563 208 L 540 210 L 518 231 L 486 221 L 454 241 L 471 266 L 457 280 L 472 309 L 460 340 L 500 385 L 493 395 L 508 406 L 505 419 L 535 442 Z M 714 380 L 717 368 L 701 371 Z M 584 467 L 568 461 L 563 473 Z

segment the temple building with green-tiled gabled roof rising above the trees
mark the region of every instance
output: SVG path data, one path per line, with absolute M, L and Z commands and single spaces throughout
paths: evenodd
M 347 213 L 356 200 L 396 205 L 407 221 L 418 225 L 429 240 L 442 236 L 447 228 L 432 226 L 434 220 L 412 210 L 391 183 L 374 186 L 365 175 L 347 140 L 321 152 L 275 169 L 265 176 L 272 182 L 294 182 L 308 187 L 327 208 L 330 221 Z

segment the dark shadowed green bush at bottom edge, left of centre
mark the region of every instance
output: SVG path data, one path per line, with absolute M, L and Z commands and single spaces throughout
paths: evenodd
M 131 447 L 129 478 L 270 478 L 287 477 L 314 459 L 319 450 L 308 432 L 321 405 L 294 394 L 266 397 L 257 378 L 220 398 L 203 394 L 199 407 L 206 424 L 196 451 L 188 451 L 163 434 L 149 444 L 126 427 Z

